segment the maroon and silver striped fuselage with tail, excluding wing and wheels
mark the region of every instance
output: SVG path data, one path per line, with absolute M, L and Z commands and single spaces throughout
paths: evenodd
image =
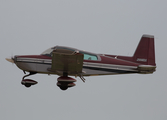
M 64 72 L 51 71 L 53 59 L 52 52 L 55 50 L 71 51 L 83 55 L 82 76 L 113 75 L 127 73 L 153 73 L 156 69 L 154 37 L 143 35 L 132 57 L 95 54 L 75 48 L 55 46 L 41 55 L 22 55 L 8 59 L 14 62 L 21 70 L 30 73 L 57 74 L 64 76 Z M 67 66 L 68 67 L 68 66 Z M 66 73 L 66 77 L 78 74 Z M 73 83 L 70 83 L 74 85 Z

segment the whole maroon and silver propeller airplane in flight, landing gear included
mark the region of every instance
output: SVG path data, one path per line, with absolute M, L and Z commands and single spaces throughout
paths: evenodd
M 15 63 L 25 74 L 29 72 L 21 81 L 25 87 L 38 83 L 25 77 L 37 73 L 55 74 L 60 76 L 57 86 L 61 90 L 75 86 L 76 79 L 69 76 L 78 76 L 85 82 L 85 76 L 151 74 L 156 71 L 154 36 L 146 34 L 141 37 L 133 56 L 96 54 L 71 47 L 55 46 L 40 55 L 15 55 L 6 60 Z

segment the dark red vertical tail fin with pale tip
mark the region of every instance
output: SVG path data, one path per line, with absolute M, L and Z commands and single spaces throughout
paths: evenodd
M 154 36 L 143 35 L 133 55 L 134 62 L 156 66 L 154 49 Z

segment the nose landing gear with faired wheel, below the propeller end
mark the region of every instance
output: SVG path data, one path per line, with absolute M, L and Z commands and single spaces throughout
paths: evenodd
M 25 77 L 28 77 L 28 76 L 34 75 L 34 74 L 36 74 L 36 72 L 30 72 L 28 75 L 25 75 L 25 76 L 22 78 L 21 84 L 22 84 L 22 85 L 25 85 L 25 87 L 31 87 L 31 85 L 37 84 L 38 82 L 35 81 L 35 80 L 24 79 Z

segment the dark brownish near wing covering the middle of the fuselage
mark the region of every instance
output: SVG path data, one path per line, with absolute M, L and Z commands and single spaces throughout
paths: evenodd
M 51 71 L 58 75 L 79 75 L 82 73 L 83 54 L 69 50 L 55 50 L 52 53 Z

